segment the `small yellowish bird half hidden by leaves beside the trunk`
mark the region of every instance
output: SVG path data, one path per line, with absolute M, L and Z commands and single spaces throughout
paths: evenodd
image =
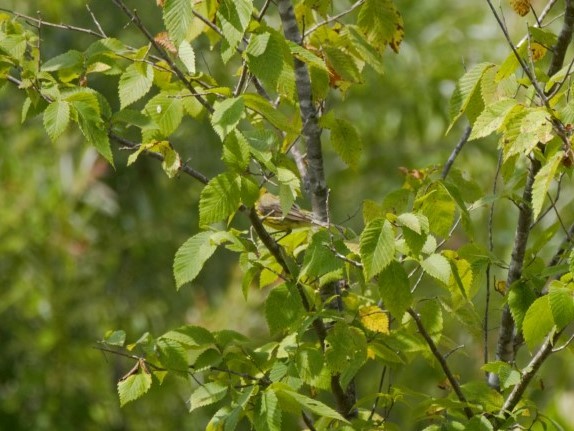
M 267 191 L 262 191 L 255 209 L 261 221 L 275 230 L 289 230 L 312 225 L 329 227 L 328 223 L 316 220 L 311 212 L 301 209 L 297 204 L 293 204 L 289 212 L 283 214 L 279 198 Z

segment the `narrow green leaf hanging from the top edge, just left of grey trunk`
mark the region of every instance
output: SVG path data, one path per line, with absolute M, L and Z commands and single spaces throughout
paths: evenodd
M 250 0 L 223 0 L 217 10 L 217 19 L 223 33 L 224 42 L 221 44 L 221 57 L 227 63 L 251 20 L 253 4 Z

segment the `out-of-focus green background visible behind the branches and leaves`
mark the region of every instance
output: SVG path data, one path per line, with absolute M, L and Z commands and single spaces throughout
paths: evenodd
M 155 1 L 130 5 L 152 31 L 161 29 Z M 538 9 L 542 5 L 535 2 Z M 465 68 L 501 61 L 508 53 L 485 2 L 404 0 L 397 6 L 406 31 L 400 54 L 387 53 L 383 76 L 367 73 L 364 85 L 344 98 L 334 95 L 328 106 L 353 121 L 363 139 L 364 155 L 356 170 L 326 150 L 332 219 L 355 215 L 349 223 L 356 227 L 363 199 L 381 200 L 400 187 L 399 167 L 444 163 L 463 127 L 444 135 L 455 81 Z M 40 11 L 52 22 L 93 26 L 84 1 L 4 0 L 2 7 L 34 16 Z M 92 1 L 90 7 L 108 35 L 144 43 L 110 0 Z M 524 23 L 515 25 L 518 39 Z M 42 29 L 44 59 L 72 48 L 83 50 L 91 42 L 79 33 Z M 115 87 L 99 90 L 117 103 Z M 0 428 L 202 429 L 203 413 L 187 413 L 190 385 L 184 381 L 168 379 L 149 396 L 120 409 L 115 385 L 131 364 L 95 348 L 107 330 L 120 328 L 129 341 L 183 323 L 266 334 L 258 296 L 242 305 L 240 274 L 231 255 L 218 252 L 192 286 L 175 290 L 172 259 L 197 232 L 200 185 L 187 177 L 168 180 L 155 160 L 143 157 L 126 168 L 127 155 L 117 149 L 114 170 L 78 133 L 52 144 L 41 119 L 21 124 L 22 102 L 11 84 L 0 90 Z M 220 147 L 208 123 L 183 124 L 173 143 L 206 175 L 221 167 Z M 472 142 L 457 166 L 486 191 L 492 187 L 496 159 L 493 140 Z M 505 256 L 514 213 L 502 209 L 495 245 Z M 479 241 L 486 239 L 484 216 L 475 217 Z M 478 341 L 451 332 L 461 343 Z M 465 367 L 477 369 L 475 358 L 482 356 L 477 349 L 459 357 L 455 369 L 465 376 Z M 552 372 L 544 376 L 545 389 L 539 389 L 547 413 L 562 421 L 574 405 L 574 386 L 564 378 L 572 377 L 566 368 L 569 355 L 548 363 Z M 440 373 L 424 361 L 410 373 L 397 378 L 442 395 L 437 388 Z M 407 429 L 406 417 L 424 414 L 415 412 L 397 406 L 395 414 L 399 423 L 403 417 Z M 563 423 L 574 429 L 574 424 Z

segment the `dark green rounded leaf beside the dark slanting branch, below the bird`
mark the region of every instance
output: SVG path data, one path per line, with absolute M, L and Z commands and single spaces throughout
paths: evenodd
M 293 288 L 282 284 L 269 292 L 265 301 L 265 319 L 271 334 L 288 329 L 304 313 L 301 298 Z

